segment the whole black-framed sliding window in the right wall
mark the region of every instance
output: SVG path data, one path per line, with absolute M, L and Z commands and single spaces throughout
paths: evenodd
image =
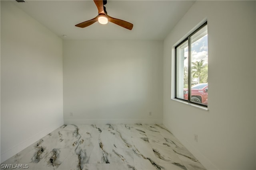
M 207 22 L 175 47 L 175 98 L 207 107 Z

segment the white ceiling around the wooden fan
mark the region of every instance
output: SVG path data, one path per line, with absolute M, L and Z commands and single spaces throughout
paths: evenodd
M 74 25 L 98 15 L 92 0 L 25 0 L 13 1 L 28 15 L 65 39 L 138 39 L 163 40 L 192 6 L 189 0 L 108 0 L 109 16 L 134 24 L 132 30 L 114 23 L 96 22 L 88 27 Z

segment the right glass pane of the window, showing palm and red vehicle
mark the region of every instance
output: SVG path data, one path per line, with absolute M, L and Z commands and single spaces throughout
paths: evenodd
M 208 104 L 208 34 L 207 25 L 191 36 L 192 102 Z

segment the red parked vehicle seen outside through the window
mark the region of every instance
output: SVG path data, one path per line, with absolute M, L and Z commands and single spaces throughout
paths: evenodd
M 188 89 L 184 88 L 184 99 L 188 100 Z M 208 83 L 200 83 L 191 87 L 192 102 L 208 104 Z

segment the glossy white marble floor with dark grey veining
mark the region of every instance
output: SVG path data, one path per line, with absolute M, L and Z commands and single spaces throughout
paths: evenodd
M 157 124 L 62 125 L 2 164 L 29 170 L 206 170 Z

